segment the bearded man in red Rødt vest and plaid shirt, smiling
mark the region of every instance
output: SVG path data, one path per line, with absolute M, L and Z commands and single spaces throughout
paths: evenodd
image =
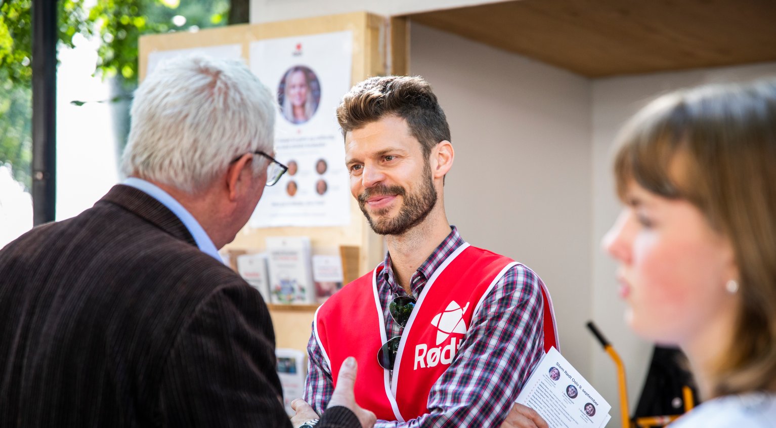
M 305 400 L 322 412 L 332 374 L 352 355 L 356 401 L 376 413 L 376 426 L 500 425 L 557 346 L 546 287 L 447 221 L 443 186 L 455 153 L 427 82 L 369 78 L 337 117 L 353 197 L 388 254 L 318 309 Z

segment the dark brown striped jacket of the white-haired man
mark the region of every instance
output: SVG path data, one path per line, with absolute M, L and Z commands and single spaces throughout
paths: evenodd
M 261 295 L 146 193 L 0 250 L 0 426 L 291 426 L 280 395 Z

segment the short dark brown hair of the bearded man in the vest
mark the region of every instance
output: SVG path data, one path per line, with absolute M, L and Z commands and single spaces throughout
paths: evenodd
M 387 116 L 407 120 L 410 132 L 420 141 L 427 157 L 440 141 L 450 141 L 445 112 L 431 92 L 431 85 L 420 77 L 368 78 L 353 86 L 337 108 L 343 137 Z

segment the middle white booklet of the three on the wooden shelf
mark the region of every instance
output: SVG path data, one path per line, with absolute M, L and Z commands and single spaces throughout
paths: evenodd
M 310 238 L 267 238 L 269 299 L 276 304 L 312 304 L 315 300 Z

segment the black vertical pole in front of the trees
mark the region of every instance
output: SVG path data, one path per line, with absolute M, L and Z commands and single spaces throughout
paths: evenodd
M 57 0 L 33 0 L 33 222 L 57 203 Z

